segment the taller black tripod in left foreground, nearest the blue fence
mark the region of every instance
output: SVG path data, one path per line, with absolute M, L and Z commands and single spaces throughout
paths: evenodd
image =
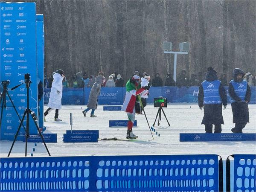
M 38 120 L 37 120 L 37 118 L 35 116 L 35 113 L 32 113 L 32 111 L 29 109 L 29 84 L 31 83 L 31 81 L 29 80 L 29 74 L 25 75 L 25 83 L 26 83 L 26 89 L 27 89 L 27 108 L 26 108 L 26 110 L 25 110 L 25 112 L 23 114 L 23 117 L 22 117 L 20 125 L 19 125 L 19 127 L 17 129 L 17 132 L 15 134 L 14 140 L 12 142 L 12 146 L 10 148 L 10 151 L 9 151 L 9 154 L 8 154 L 7 157 L 9 157 L 11 152 L 12 152 L 13 145 L 14 145 L 14 143 L 15 143 L 15 141 L 17 139 L 17 136 L 18 136 L 18 134 L 20 132 L 20 127 L 21 127 L 21 125 L 22 125 L 22 123 L 23 123 L 23 121 L 25 119 L 25 116 L 26 116 L 26 129 L 25 129 L 26 130 L 26 134 L 25 134 L 25 137 L 26 137 L 25 157 L 26 157 L 26 155 L 27 155 L 27 143 L 28 143 L 28 138 L 29 138 L 29 114 L 32 116 L 32 119 L 33 119 L 33 121 L 35 123 L 35 126 L 36 126 L 36 128 L 38 130 L 38 133 L 39 133 L 39 135 L 40 135 L 40 137 L 41 137 L 41 139 L 42 139 L 42 141 L 44 143 L 44 146 L 45 146 L 45 148 L 47 150 L 47 153 L 49 154 L 49 156 L 51 156 L 50 153 L 49 153 L 49 150 L 48 150 L 48 148 L 47 148 L 47 146 L 46 146 L 46 144 L 44 142 L 44 138 L 43 138 L 43 136 L 41 134 L 41 131 L 39 130 L 39 127 L 38 127 L 38 125 L 36 123 L 36 121 L 38 121 Z

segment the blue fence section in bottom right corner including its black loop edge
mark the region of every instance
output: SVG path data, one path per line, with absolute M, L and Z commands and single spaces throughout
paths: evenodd
M 233 166 L 230 166 L 229 157 L 234 158 Z M 233 154 L 233 155 L 230 155 L 229 157 L 227 157 L 227 169 L 226 169 L 227 170 L 227 191 L 255 192 L 256 191 L 256 154 Z M 231 175 L 233 177 L 231 177 Z M 230 183 L 233 183 L 233 186 L 231 186 Z

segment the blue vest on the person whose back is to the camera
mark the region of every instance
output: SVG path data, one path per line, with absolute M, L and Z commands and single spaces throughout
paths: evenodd
M 204 105 L 207 104 L 221 104 L 221 96 L 219 93 L 221 81 L 203 81 L 202 86 L 204 89 Z

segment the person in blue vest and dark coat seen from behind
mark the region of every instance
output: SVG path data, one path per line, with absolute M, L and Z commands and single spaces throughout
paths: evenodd
M 221 124 L 224 124 L 222 116 L 222 105 L 227 107 L 227 93 L 221 81 L 218 80 L 217 72 L 208 67 L 208 72 L 199 87 L 198 106 L 204 109 L 204 117 L 201 124 L 205 125 L 205 133 L 221 133 Z

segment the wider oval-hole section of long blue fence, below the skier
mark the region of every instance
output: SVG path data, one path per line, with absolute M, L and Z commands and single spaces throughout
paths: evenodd
M 100 160 L 97 189 L 212 187 L 215 160 Z M 201 165 L 208 165 L 204 167 Z M 197 179 L 207 176 L 208 179 Z M 125 180 L 122 179 L 125 177 Z M 157 179 L 154 179 L 157 177 Z M 161 179 L 160 179 L 161 178 Z M 182 178 L 182 179 L 181 179 Z

